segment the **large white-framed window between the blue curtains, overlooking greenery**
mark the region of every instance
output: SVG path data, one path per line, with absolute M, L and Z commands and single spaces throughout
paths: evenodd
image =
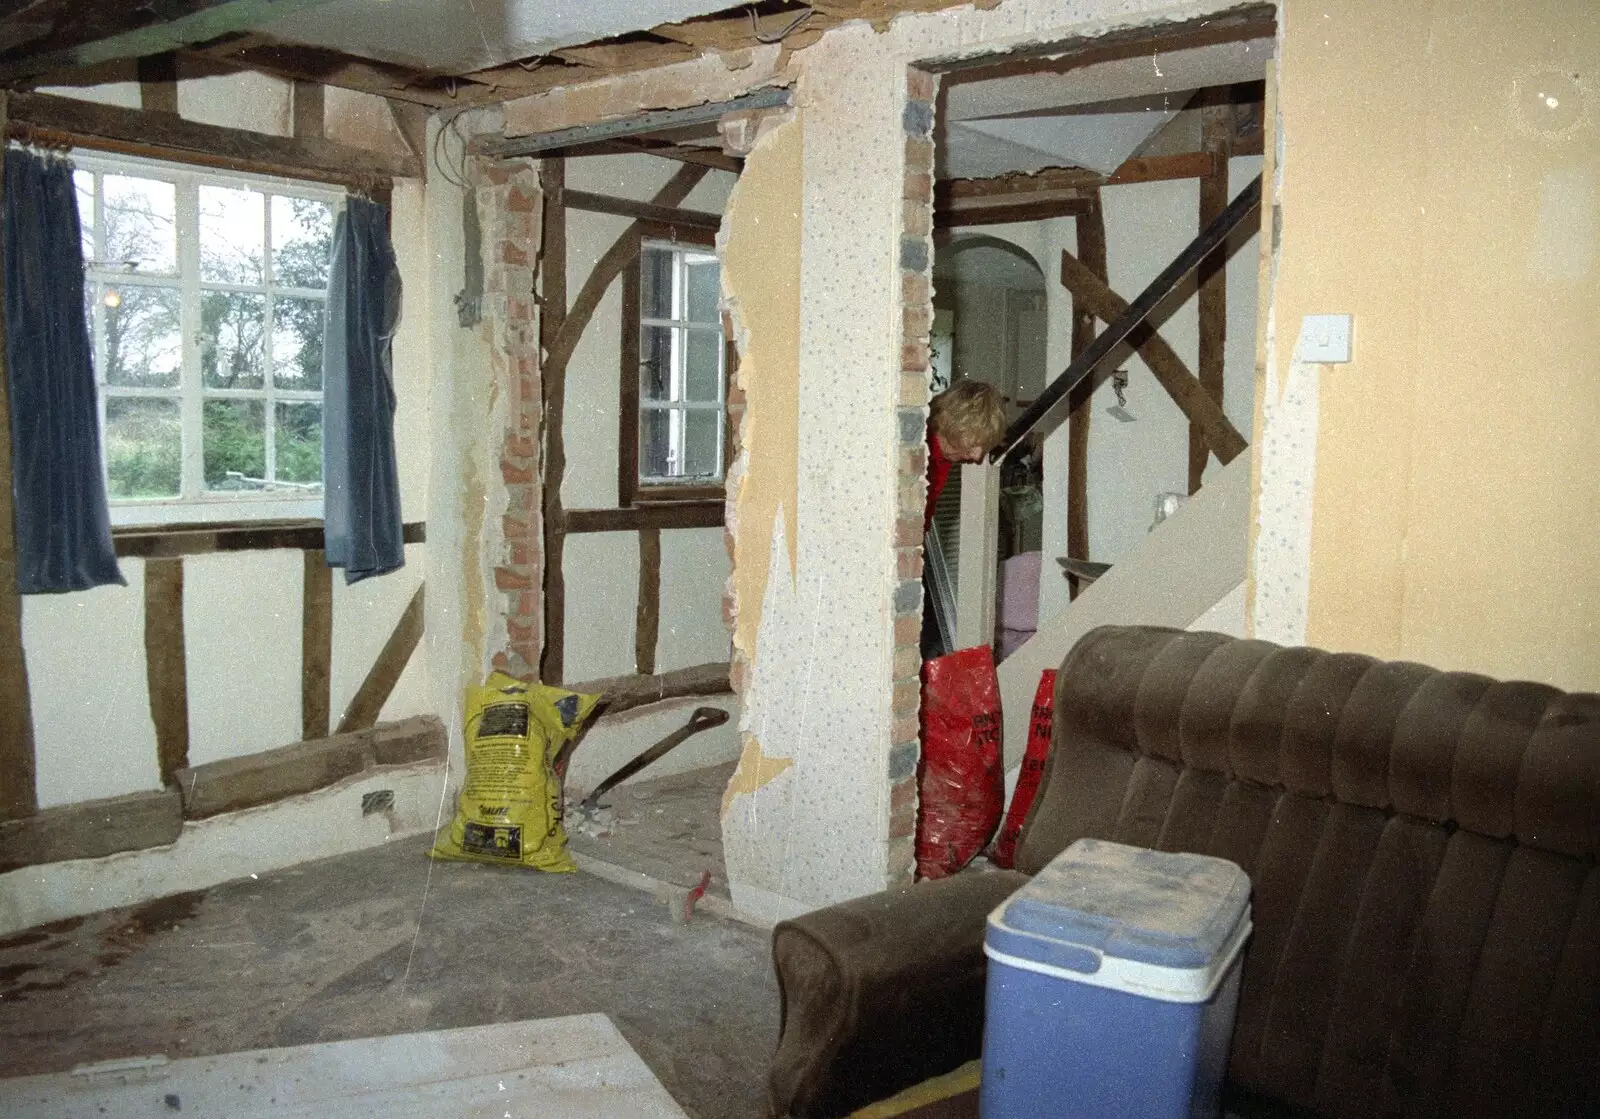
M 339 191 L 75 154 L 112 523 L 322 515 Z

